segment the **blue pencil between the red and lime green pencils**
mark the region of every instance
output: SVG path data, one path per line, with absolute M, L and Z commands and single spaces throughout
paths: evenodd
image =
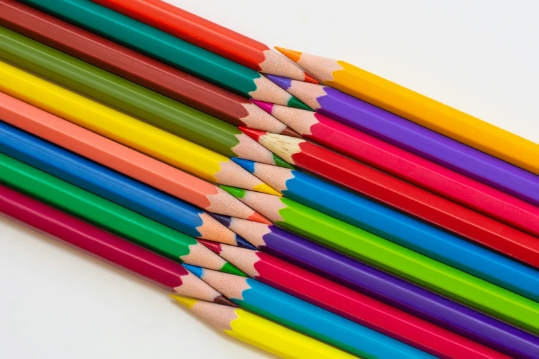
M 306 173 L 246 160 L 237 160 L 237 164 L 273 186 L 277 191 L 281 191 L 288 199 L 522 296 L 535 301 L 539 299 L 539 290 L 536 290 L 539 288 L 539 272 L 527 265 Z M 526 258 L 537 259 L 538 239 L 524 233 L 522 235 L 528 239 L 524 243 L 526 246 L 524 244 L 514 246 L 511 250 L 506 247 L 505 250 L 515 257 L 517 257 L 515 251 L 520 251 L 527 254 Z M 509 243 L 513 244 L 519 238 L 511 237 L 511 239 L 513 241 Z

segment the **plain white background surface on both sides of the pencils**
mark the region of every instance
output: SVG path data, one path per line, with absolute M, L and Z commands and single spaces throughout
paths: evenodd
M 536 1 L 169 0 L 539 142 Z M 328 6 L 337 9 L 332 12 Z M 0 217 L 0 358 L 271 358 L 165 291 Z

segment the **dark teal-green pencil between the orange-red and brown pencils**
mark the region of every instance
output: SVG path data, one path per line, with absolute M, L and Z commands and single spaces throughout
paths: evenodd
M 158 61 L 243 96 L 308 109 L 258 72 L 89 0 L 24 0 L 47 12 Z

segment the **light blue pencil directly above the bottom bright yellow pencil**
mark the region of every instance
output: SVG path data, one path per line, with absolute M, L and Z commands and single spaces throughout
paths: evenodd
M 194 265 L 190 272 L 238 306 L 363 358 L 434 358 L 377 331 L 254 279 L 220 275 Z

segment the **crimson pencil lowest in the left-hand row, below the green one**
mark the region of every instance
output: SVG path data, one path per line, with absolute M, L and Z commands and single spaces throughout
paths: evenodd
M 1 185 L 0 212 L 156 283 L 170 292 L 235 306 L 179 263 Z

